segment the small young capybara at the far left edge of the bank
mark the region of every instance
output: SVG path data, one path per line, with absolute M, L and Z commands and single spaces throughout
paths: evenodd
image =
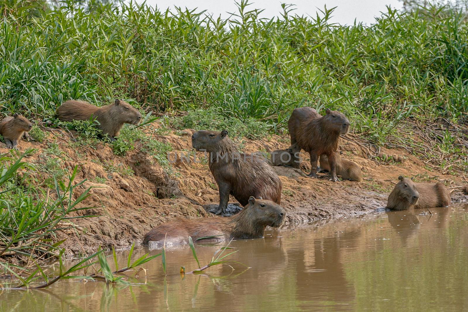
M 28 118 L 16 113 L 13 116 L 3 118 L 0 122 L 0 134 L 5 140 L 7 148 L 18 148 L 18 140 L 21 137 L 28 139 L 28 131 L 31 128 L 32 123 Z

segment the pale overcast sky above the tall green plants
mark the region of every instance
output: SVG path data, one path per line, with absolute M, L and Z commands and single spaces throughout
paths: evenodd
M 141 3 L 142 0 L 136 0 Z M 278 16 L 282 12 L 281 2 L 293 3 L 296 5 L 296 10 L 293 13 L 298 15 L 315 16 L 317 8 L 323 9 L 326 4 L 327 8 L 337 7 L 334 11 L 331 22 L 340 24 L 352 24 L 354 19 L 357 22 L 363 22 L 367 25 L 374 22 L 374 17 L 379 16 L 380 12 L 385 12 L 386 5 L 391 7 L 401 8 L 402 4 L 398 0 L 251 0 L 252 3 L 248 8 L 265 9 L 262 17 Z M 161 10 L 173 9 L 174 6 L 193 9 L 198 7 L 201 10 L 208 10 L 207 13 L 212 13 L 215 16 L 221 15 L 223 19 L 230 15 L 227 12 L 236 12 L 234 1 L 231 0 L 146 0 L 146 4 L 157 6 Z

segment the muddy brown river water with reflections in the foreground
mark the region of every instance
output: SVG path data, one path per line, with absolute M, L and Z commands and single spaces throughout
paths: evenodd
M 63 280 L 4 291 L 0 311 L 467 311 L 468 204 L 422 212 L 267 231 L 231 243 L 239 251 L 229 259 L 246 267 L 219 265 L 183 279 L 181 265 L 197 268 L 190 248 L 167 250 L 167 276 L 159 257 L 143 265 L 146 284 Z M 218 248 L 197 245 L 200 264 Z M 143 272 L 129 281 L 145 283 Z

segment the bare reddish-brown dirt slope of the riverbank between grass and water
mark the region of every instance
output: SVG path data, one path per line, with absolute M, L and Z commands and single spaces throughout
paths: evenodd
M 191 151 L 190 137 L 194 130 L 177 132 L 180 135 L 170 132 L 161 136 L 155 135 L 151 129 L 157 126 L 148 126 L 146 133 L 173 146 L 171 159 L 174 159 L 175 153 L 180 155 L 181 152 Z M 61 167 L 71 169 L 78 166 L 77 181 L 87 179 L 84 186 L 94 187 L 83 202 L 94 208 L 81 213 L 100 215 L 76 219 L 75 225 L 80 226 L 82 231 L 59 233 L 57 239 L 67 238 L 65 247 L 69 254 L 80 253 L 82 249 L 91 252 L 99 245 L 127 247 L 134 241 L 141 241 L 143 235 L 155 225 L 177 217 L 214 217 L 204 209 L 207 204 L 219 202 L 217 186 L 206 162 L 176 162 L 173 164 L 174 173 L 169 176 L 152 156 L 139 150 L 138 144 L 125 156 L 116 156 L 108 144 L 99 144 L 95 149 L 72 147 L 65 132 L 51 131 L 48 141 L 56 141 L 63 152 L 60 156 L 64 160 Z M 270 152 L 287 148 L 289 138 L 273 136 L 264 140 L 244 140 L 242 145 L 244 152 Z M 43 151 L 48 145 L 20 142 L 20 151 L 29 148 L 35 148 L 37 152 L 27 161 L 44 163 Z M 382 149 L 381 154 L 402 160 L 401 163 L 388 164 L 367 159 L 364 149 L 351 141 L 342 139 L 340 149 L 344 151 L 344 158 L 362 167 L 364 181 L 332 182 L 324 174 L 319 179 L 311 179 L 297 169 L 274 167 L 283 183 L 281 204 L 287 211 L 286 224 L 363 214 L 383 207 L 399 175 L 416 176 L 423 181 L 439 180 L 448 187 L 466 182 L 464 177 L 429 171 L 424 168 L 424 163 L 406 152 Z M 307 164 L 308 155 L 302 156 L 305 172 L 305 169 L 310 170 L 310 164 Z M 74 196 L 79 196 L 83 190 L 77 190 Z M 456 201 L 468 199 L 460 192 L 452 196 Z M 235 199 L 231 198 L 231 202 L 235 202 Z

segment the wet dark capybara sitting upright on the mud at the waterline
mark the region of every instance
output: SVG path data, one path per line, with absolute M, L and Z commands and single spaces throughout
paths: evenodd
M 278 175 L 258 155 L 239 153 L 226 130 L 197 131 L 192 135 L 192 146 L 209 153 L 208 165 L 219 189 L 216 214 L 226 210 L 229 194 L 242 206 L 249 203 L 250 196 L 280 203 L 282 185 Z

